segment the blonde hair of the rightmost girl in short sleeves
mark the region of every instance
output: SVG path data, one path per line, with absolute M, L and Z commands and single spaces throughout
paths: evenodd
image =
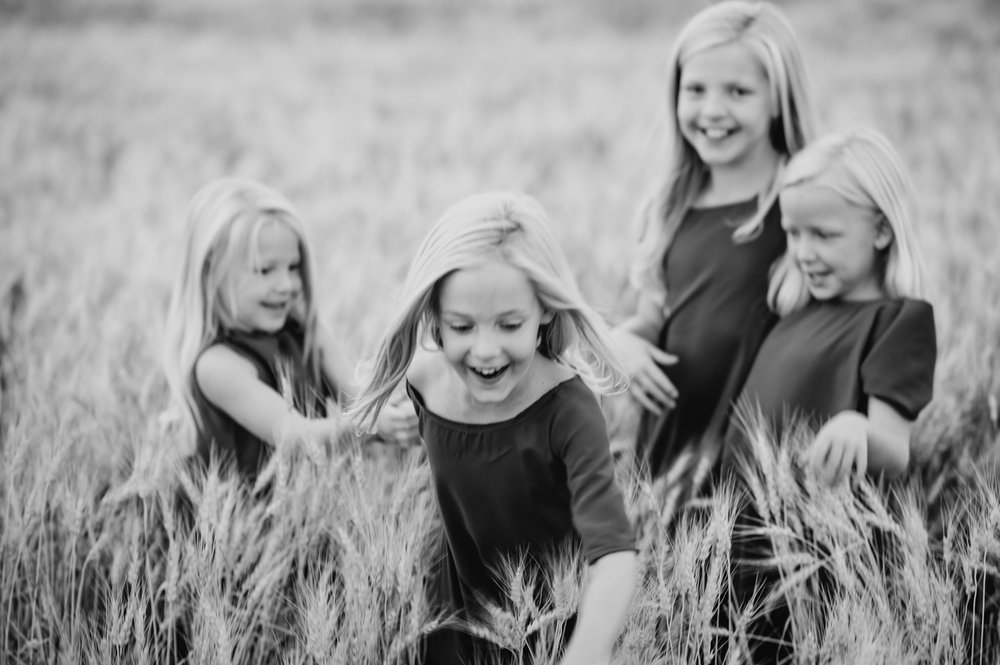
M 892 241 L 881 250 L 882 288 L 893 298 L 923 297 L 923 260 L 913 230 L 913 186 L 889 139 L 860 127 L 811 143 L 788 163 L 780 186 L 785 190 L 806 183 L 829 188 L 861 212 L 872 213 L 873 223 L 888 224 Z M 809 302 L 806 279 L 788 252 L 771 278 L 767 301 L 781 316 Z

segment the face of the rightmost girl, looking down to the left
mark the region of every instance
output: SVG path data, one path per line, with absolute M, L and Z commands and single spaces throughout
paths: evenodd
M 888 224 L 821 185 L 795 185 L 779 199 L 789 255 L 813 298 L 862 301 L 884 295 L 879 254 L 892 242 Z

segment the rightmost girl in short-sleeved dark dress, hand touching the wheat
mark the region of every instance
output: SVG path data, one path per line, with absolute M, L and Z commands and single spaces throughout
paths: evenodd
M 778 428 L 785 413 L 821 424 L 808 461 L 831 483 L 899 476 L 937 356 L 902 163 L 874 130 L 829 136 L 792 159 L 779 198 L 788 253 L 768 302 L 781 319 L 739 402 Z

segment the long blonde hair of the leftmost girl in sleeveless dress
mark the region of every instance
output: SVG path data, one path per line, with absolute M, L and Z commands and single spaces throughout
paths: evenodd
M 220 335 L 236 327 L 233 269 L 254 260 L 261 229 L 270 222 L 284 225 L 299 240 L 302 299 L 290 316 L 302 326 L 306 363 L 319 377 L 313 261 L 298 212 L 284 196 L 259 183 L 212 181 L 198 190 L 188 208 L 184 256 L 164 331 L 167 382 L 195 427 L 200 424 L 193 392 L 195 363 Z

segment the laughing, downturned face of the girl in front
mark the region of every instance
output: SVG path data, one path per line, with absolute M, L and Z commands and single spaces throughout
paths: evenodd
M 539 326 L 551 320 L 527 276 L 500 259 L 441 283 L 441 349 L 473 404 L 517 402 L 531 386 Z

